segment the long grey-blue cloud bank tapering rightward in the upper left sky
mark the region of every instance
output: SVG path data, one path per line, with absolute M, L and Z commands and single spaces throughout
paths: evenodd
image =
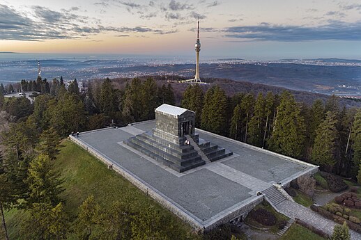
M 17 13 L 13 8 L 0 4 L 0 39 L 43 41 L 49 39 L 89 38 L 104 32 L 114 33 L 157 33 L 160 29 L 144 26 L 102 26 L 98 19 L 90 19 L 67 11 L 56 12 L 49 8 L 33 6 L 36 19 Z

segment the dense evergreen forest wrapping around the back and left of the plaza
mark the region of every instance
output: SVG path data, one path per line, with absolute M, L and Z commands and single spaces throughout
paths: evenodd
M 72 131 L 151 120 L 157 106 L 176 104 L 171 83 L 136 78 L 118 88 L 112 80 L 104 79 L 89 82 L 86 91 L 79 91 L 76 79 L 68 89 L 62 78 L 48 82 L 39 77 L 20 84 L 22 90 L 40 94 L 31 104 L 26 97 L 3 97 L 13 86 L 0 86 L 1 215 L 5 209 L 25 209 L 29 213 L 27 224 L 33 224 L 33 231 L 24 232 L 28 239 L 66 239 L 68 231 L 79 239 L 92 239 L 95 222 L 111 223 L 114 218 L 128 225 L 121 229 L 109 229 L 108 225 L 102 231 L 117 239 L 174 239 L 169 234 L 171 229 L 161 230 L 164 219 L 156 218 L 153 209 L 140 216 L 114 203 L 112 207 L 118 208 L 121 216 L 107 211 L 95 214 L 99 207 L 91 196 L 70 221 L 63 211 L 66 202 L 59 198 L 63 179 L 52 170 L 61 139 Z M 361 182 L 361 109 L 343 106 L 335 95 L 306 104 L 296 102 L 286 90 L 281 94 L 269 91 L 229 96 L 217 84 L 210 84 L 206 91 L 198 84 L 189 84 L 179 103 L 197 113 L 197 127 L 201 129 Z M 95 219 L 100 215 L 102 218 Z M 155 219 L 151 227 L 142 222 L 149 219 Z M 71 230 L 70 222 L 75 226 Z M 23 227 L 28 229 L 29 225 Z

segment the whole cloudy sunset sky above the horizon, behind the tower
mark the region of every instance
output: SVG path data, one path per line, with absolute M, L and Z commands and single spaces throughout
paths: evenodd
M 0 0 L 0 51 L 361 59 L 360 0 Z

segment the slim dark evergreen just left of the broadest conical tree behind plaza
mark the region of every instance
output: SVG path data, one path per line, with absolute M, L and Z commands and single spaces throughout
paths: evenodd
M 259 93 L 254 104 L 254 115 L 248 125 L 248 142 L 252 145 L 261 147 L 263 140 L 265 99 L 262 93 Z

